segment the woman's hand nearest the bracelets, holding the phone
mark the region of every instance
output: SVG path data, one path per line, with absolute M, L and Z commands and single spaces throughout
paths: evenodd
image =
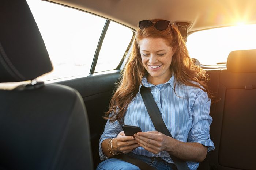
M 129 153 L 139 147 L 133 136 L 125 136 L 124 131 L 121 131 L 116 138 L 112 140 L 112 149 L 114 152 Z

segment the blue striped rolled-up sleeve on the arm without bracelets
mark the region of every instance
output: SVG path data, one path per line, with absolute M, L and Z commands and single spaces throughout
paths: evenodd
M 197 142 L 208 147 L 208 152 L 214 150 L 214 143 L 210 138 L 210 125 L 212 117 L 209 115 L 211 100 L 207 93 L 200 90 L 195 98 L 195 103 L 191 108 L 192 127 L 188 134 L 188 142 Z

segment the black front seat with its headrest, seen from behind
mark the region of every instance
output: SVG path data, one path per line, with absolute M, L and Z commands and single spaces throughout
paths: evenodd
M 0 23 L 0 82 L 33 80 L 52 70 L 25 0 L 1 0 Z M 0 169 L 93 169 L 80 94 L 35 80 L 0 90 Z

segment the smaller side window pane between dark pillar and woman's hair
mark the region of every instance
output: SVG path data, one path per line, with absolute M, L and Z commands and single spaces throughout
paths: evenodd
M 110 22 L 99 52 L 95 72 L 116 69 L 131 42 L 132 35 L 131 29 Z

